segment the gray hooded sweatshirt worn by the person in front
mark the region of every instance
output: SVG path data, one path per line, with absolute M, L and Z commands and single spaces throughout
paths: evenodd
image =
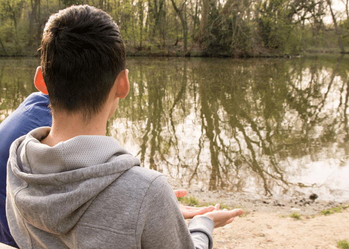
M 49 127 L 16 139 L 6 215 L 21 249 L 212 248 L 213 222 L 186 226 L 167 178 L 108 136 L 41 144 Z

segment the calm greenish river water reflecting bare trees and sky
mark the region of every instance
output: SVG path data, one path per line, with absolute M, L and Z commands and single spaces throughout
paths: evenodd
M 0 59 L 0 121 L 38 58 Z M 143 166 L 203 190 L 349 200 L 349 57 L 128 58 L 108 124 Z

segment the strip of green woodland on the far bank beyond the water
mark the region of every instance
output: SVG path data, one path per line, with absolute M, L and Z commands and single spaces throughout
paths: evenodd
M 72 4 L 107 11 L 128 55 L 291 56 L 349 52 L 348 1 L 0 0 L 0 56 L 38 55 L 48 17 Z

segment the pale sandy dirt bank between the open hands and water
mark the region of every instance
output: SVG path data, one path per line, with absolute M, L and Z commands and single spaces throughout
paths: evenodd
M 349 242 L 349 208 L 341 213 L 321 214 L 323 210 L 348 205 L 349 201 L 312 201 L 307 196 L 287 200 L 251 198 L 241 193 L 186 189 L 188 196 L 200 202 L 244 209 L 244 216 L 213 230 L 213 249 L 337 249 L 338 241 Z M 295 212 L 301 220 L 290 217 Z

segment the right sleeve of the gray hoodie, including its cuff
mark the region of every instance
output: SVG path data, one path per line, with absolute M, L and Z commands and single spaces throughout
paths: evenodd
M 150 185 L 137 221 L 136 240 L 142 249 L 211 249 L 214 223 L 194 217 L 188 227 L 165 176 Z

